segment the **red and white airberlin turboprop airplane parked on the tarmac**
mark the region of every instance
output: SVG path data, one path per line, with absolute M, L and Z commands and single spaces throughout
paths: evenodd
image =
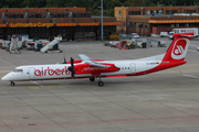
M 71 57 L 71 61 L 66 62 L 64 58 L 63 64 L 19 66 L 1 80 L 8 80 L 14 86 L 14 81 L 73 78 L 90 78 L 94 81 L 100 78 L 98 86 L 102 87 L 102 77 L 146 75 L 186 64 L 185 56 L 193 33 L 178 33 L 174 34 L 174 37 L 165 54 L 127 61 L 91 59 L 84 54 L 78 54 L 80 59 L 74 61 Z

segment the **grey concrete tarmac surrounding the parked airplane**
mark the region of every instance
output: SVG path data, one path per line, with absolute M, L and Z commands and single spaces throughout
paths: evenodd
M 156 38 L 156 37 L 155 37 Z M 134 59 L 167 47 L 119 51 L 101 42 L 65 42 L 63 53 L 0 50 L 0 78 L 20 65 L 56 64 L 85 54 L 98 59 Z M 191 42 L 187 64 L 163 72 L 97 80 L 0 80 L 0 132 L 197 132 L 199 131 L 199 46 Z

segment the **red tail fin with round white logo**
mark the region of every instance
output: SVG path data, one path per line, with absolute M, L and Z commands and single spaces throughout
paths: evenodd
M 167 53 L 164 57 L 164 62 L 170 61 L 184 61 L 187 54 L 193 33 L 177 33 L 172 35 L 175 40 L 170 44 L 170 47 L 167 50 Z

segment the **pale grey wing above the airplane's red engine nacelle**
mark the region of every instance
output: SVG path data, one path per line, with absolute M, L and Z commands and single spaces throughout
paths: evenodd
M 109 67 L 108 65 L 103 65 L 95 61 L 92 61 L 88 56 L 86 56 L 84 54 L 78 54 L 78 58 L 82 59 L 84 64 L 90 64 L 91 66 Z

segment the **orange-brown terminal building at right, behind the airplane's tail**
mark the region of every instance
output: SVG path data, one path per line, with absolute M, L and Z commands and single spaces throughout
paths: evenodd
M 172 29 L 199 28 L 199 7 L 115 7 L 121 33 L 158 35 Z

